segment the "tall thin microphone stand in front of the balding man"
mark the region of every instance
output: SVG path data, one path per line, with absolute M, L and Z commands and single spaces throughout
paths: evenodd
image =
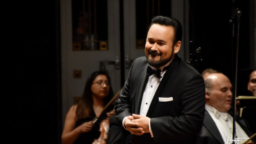
M 234 8 L 235 0 L 232 0 L 232 18 L 230 19 L 230 23 L 232 24 L 232 50 L 234 49 L 234 38 L 235 38 L 235 16 L 237 20 L 237 35 L 236 35 L 236 63 L 235 63 L 235 95 L 233 96 L 233 144 L 235 144 L 236 136 L 236 128 L 235 128 L 235 119 L 236 119 L 236 98 L 237 98 L 237 69 L 238 69 L 238 49 L 239 49 L 239 26 L 240 26 L 240 16 L 241 10 Z

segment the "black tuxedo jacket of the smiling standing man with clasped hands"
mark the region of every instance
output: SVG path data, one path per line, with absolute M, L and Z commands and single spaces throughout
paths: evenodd
M 148 77 L 145 57 L 134 60 L 119 99 L 115 103 L 116 118 L 139 114 Z M 173 101 L 159 102 L 159 97 Z M 205 83 L 201 75 L 176 54 L 152 99 L 147 117 L 150 133 L 133 135 L 133 143 L 195 143 L 205 111 Z M 127 130 L 126 130 L 127 131 Z

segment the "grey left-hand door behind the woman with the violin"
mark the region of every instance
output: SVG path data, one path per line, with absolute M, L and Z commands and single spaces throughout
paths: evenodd
M 81 2 L 83 2 L 83 5 L 86 5 L 85 7 L 87 7 L 87 2 L 90 2 L 93 6 L 94 0 L 82 0 Z M 95 31 L 95 27 L 93 26 L 91 26 L 91 29 L 93 30 L 91 30 L 90 32 L 90 34 L 92 35 L 91 39 L 89 39 L 90 36 L 89 38 L 88 36 L 84 36 L 82 41 L 80 41 L 80 43 L 85 43 L 84 45 L 81 44 L 84 46 L 82 50 L 74 49 L 74 43 L 72 38 L 72 34 L 74 31 L 72 27 L 72 1 L 66 0 L 61 1 L 60 3 L 62 56 L 62 122 L 64 123 L 67 111 L 74 104 L 75 98 L 82 95 L 87 77 L 92 72 L 101 68 L 101 62 L 109 62 L 105 65 L 105 70 L 109 72 L 114 92 L 117 92 L 121 88 L 120 66 L 119 69 L 117 69 L 117 66 L 111 64 L 111 62 L 115 63 L 115 61 L 118 61 L 120 59 L 120 20 L 119 1 L 108 0 L 106 5 L 107 11 L 105 11 L 105 13 L 107 13 L 107 23 L 97 24 L 99 26 L 107 25 L 107 50 L 100 50 L 99 47 L 94 48 L 94 46 L 88 47 L 88 43 L 93 43 L 96 38 L 99 39 L 99 37 L 95 38 L 93 36 L 93 32 Z M 84 11 L 85 10 L 83 10 L 83 12 Z M 91 11 L 93 11 L 93 7 L 91 7 Z M 95 16 L 95 14 L 91 14 L 91 16 Z M 84 17 L 85 16 L 83 15 L 83 18 Z M 85 27 L 83 28 L 85 29 Z M 97 29 L 98 31 L 99 28 Z M 79 48 L 79 46 L 75 48 Z M 81 78 L 73 77 L 74 70 L 81 70 Z

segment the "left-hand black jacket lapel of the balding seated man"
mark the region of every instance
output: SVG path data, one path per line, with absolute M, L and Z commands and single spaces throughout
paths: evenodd
M 219 129 L 207 110 L 205 110 L 205 118 L 203 120 L 203 125 L 206 127 L 206 129 L 208 129 L 211 135 L 213 135 L 216 141 L 218 141 L 219 143 L 223 143 L 223 139 L 221 134 L 219 133 Z

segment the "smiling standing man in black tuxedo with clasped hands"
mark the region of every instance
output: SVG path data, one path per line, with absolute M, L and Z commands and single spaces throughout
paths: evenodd
M 205 84 L 177 55 L 182 27 L 157 16 L 147 33 L 145 54 L 134 60 L 119 99 L 116 118 L 133 143 L 195 143 L 202 127 Z

